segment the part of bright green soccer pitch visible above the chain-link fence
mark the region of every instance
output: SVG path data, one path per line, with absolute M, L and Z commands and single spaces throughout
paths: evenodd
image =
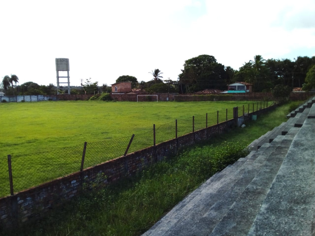
M 0 104 L 0 156 L 44 152 L 84 142 L 130 137 L 192 116 L 216 123 L 235 106 L 253 102 L 96 102 L 58 101 Z M 259 103 L 260 106 L 260 103 Z M 256 109 L 256 105 L 255 105 Z M 242 109 L 239 109 L 241 115 Z M 211 125 L 211 123 L 209 123 Z

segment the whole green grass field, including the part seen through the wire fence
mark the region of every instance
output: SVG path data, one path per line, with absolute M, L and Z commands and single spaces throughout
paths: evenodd
M 255 102 L 254 110 L 257 109 Z M 271 102 L 269 102 L 269 105 Z M 232 118 L 233 107 L 245 112 L 253 102 L 98 102 L 59 101 L 0 104 L 0 197 L 9 193 L 7 155 L 12 155 L 14 192 L 78 171 L 83 143 L 88 142 L 84 167 L 123 155 L 132 134 L 131 151 Z M 262 106 L 264 106 L 262 104 Z M 260 108 L 260 103 L 258 105 Z M 243 109 L 239 109 L 239 115 Z M 137 145 L 135 145 L 135 144 Z M 120 147 L 119 153 L 113 153 Z M 28 155 L 21 155 L 28 154 Z M 99 158 L 96 158 L 99 157 Z

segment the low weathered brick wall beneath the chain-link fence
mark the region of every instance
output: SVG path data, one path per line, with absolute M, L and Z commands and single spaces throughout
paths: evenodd
M 255 111 L 255 115 L 273 110 L 276 105 Z M 237 108 L 236 108 L 237 110 Z M 237 111 L 235 114 L 238 114 Z M 0 199 L 0 229 L 18 227 L 19 224 L 37 219 L 54 206 L 64 204 L 78 195 L 83 183 L 114 183 L 116 180 L 134 175 L 145 166 L 156 163 L 175 154 L 187 145 L 206 140 L 225 130 L 237 126 L 239 118 L 249 120 L 251 115 L 237 117 L 195 132 L 188 133 L 166 142 L 141 149 L 126 156 L 106 161 L 93 167 L 60 177 L 36 187 L 32 187 L 12 196 Z

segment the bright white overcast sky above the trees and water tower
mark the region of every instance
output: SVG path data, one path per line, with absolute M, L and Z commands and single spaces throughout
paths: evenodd
M 70 85 L 109 85 L 149 81 L 154 69 L 176 80 L 201 54 L 235 70 L 257 54 L 315 55 L 314 0 L 1 0 L 0 9 L 0 78 L 20 84 L 56 85 L 55 58 L 69 58 Z

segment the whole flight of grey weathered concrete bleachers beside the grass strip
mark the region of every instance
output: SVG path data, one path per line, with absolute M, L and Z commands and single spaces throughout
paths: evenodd
M 143 235 L 315 235 L 315 99 Z M 300 107 L 301 108 L 301 107 Z

